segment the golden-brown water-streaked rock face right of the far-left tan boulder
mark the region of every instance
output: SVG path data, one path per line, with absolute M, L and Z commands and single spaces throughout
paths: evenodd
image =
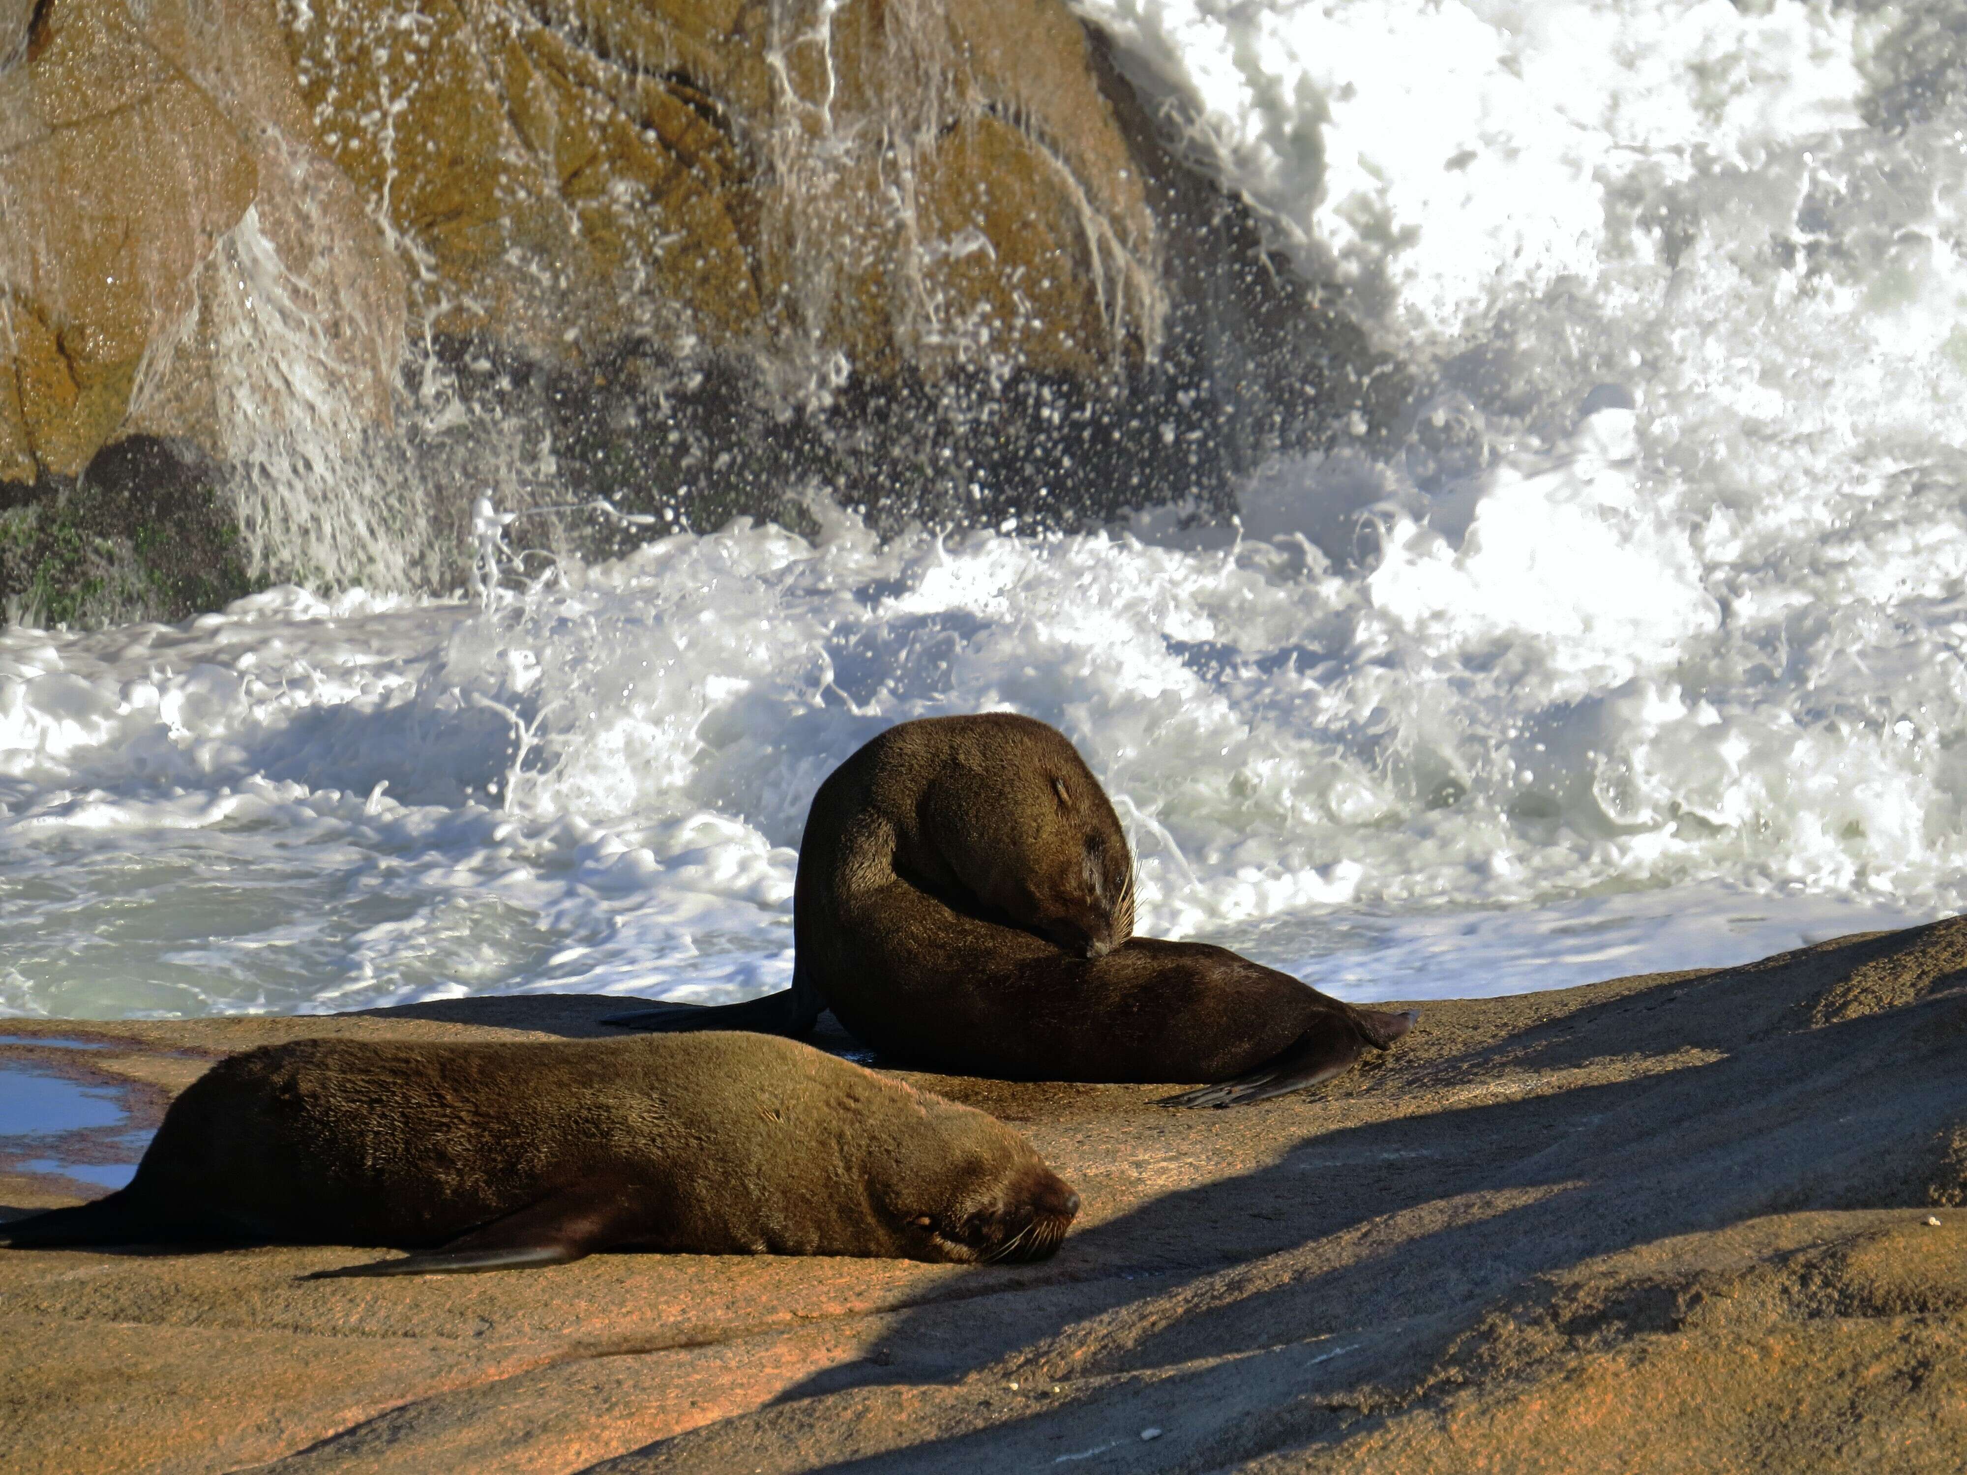
M 439 332 L 862 372 L 1098 376 L 1155 348 L 1143 181 L 1052 0 L 358 0 L 283 24 Z

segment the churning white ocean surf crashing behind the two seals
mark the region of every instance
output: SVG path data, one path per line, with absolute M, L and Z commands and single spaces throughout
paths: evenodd
M 783 987 L 820 779 L 982 708 L 1103 777 L 1143 932 L 1353 999 L 1959 911 L 1967 10 L 1080 8 L 1420 368 L 1393 454 L 1267 466 L 1237 527 L 814 503 L 0 631 L 0 1011 Z

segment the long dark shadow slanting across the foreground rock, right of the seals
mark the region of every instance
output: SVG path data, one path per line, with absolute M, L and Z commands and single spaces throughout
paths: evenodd
M 1046 1123 L 1035 1137 L 1094 1208 L 1060 1259 L 606 1469 L 1048 1465 L 1102 1453 L 1102 1428 L 1125 1467 L 1214 1467 L 1410 1402 L 1487 1308 L 1566 1267 L 1762 1215 L 1959 1202 L 1963 950 L 1951 920 L 1434 1005 L 1432 1040 L 1273 1109 L 1157 1113 L 1092 1088 L 1125 1105 L 1088 1119 L 1088 1088 L 952 1082 Z M 1825 1023 L 1825 1001 L 1845 1017 Z M 1098 1217 L 1102 1162 L 1168 1156 L 1255 1166 Z

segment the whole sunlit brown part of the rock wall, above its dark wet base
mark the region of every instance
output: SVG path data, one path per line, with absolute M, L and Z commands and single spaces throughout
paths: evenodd
M 299 387 L 232 384 L 254 348 L 386 419 L 411 309 L 474 354 L 659 336 L 822 380 L 1159 348 L 1147 181 L 1056 0 L 18 10 L 0 480 L 126 433 L 240 454 L 224 401 Z

